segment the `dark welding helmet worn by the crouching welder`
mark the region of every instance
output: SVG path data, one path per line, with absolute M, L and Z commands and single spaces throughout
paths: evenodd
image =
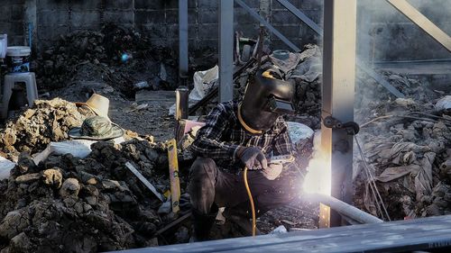
M 238 120 L 246 131 L 262 134 L 281 115 L 294 113 L 293 95 L 293 84 L 283 80 L 278 68 L 260 69 L 246 86 Z

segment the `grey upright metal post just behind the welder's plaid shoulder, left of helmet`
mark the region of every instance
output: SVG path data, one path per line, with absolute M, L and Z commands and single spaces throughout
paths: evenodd
M 234 1 L 219 1 L 219 102 L 234 97 Z

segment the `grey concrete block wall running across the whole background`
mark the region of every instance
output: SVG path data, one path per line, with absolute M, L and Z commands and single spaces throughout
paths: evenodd
M 217 48 L 218 0 L 187 0 L 189 4 L 189 48 Z M 276 0 L 269 1 L 268 16 L 274 27 L 299 48 L 321 43 L 320 37 L 301 23 Z M 38 49 L 51 46 L 60 35 L 77 30 L 99 30 L 113 22 L 133 27 L 150 36 L 152 44 L 178 46 L 178 0 L 2 0 L 0 32 L 9 35 L 10 44 L 25 44 L 27 25 L 35 23 L 34 41 Z M 262 2 L 245 0 L 255 11 Z M 322 0 L 290 0 L 322 26 Z M 449 52 L 397 13 L 385 1 L 358 0 L 358 50 L 368 60 L 451 58 Z M 451 34 L 449 0 L 410 0 L 412 5 L 448 34 Z M 235 4 L 235 30 L 256 38 L 259 23 Z M 268 32 L 272 49 L 288 49 Z

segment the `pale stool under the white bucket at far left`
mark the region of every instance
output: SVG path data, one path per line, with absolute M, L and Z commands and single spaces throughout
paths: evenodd
M 38 99 L 38 87 L 36 86 L 36 76 L 33 72 L 16 73 L 5 75 L 3 89 L 3 108 L 2 118 L 5 119 L 8 114 L 9 99 L 12 95 L 12 89 L 16 83 L 25 83 L 28 105 L 32 107 L 34 100 Z

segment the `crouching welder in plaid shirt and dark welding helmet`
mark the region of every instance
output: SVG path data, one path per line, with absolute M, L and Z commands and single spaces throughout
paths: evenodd
M 189 172 L 194 241 L 208 239 L 219 207 L 223 215 L 249 233 L 252 192 L 257 217 L 290 203 L 299 193 L 297 178 L 285 176 L 290 163 L 272 163 L 272 156 L 294 158 L 283 115 L 294 113 L 294 86 L 278 68 L 263 68 L 246 86 L 241 101 L 217 104 L 198 131 L 192 149 L 197 156 Z

